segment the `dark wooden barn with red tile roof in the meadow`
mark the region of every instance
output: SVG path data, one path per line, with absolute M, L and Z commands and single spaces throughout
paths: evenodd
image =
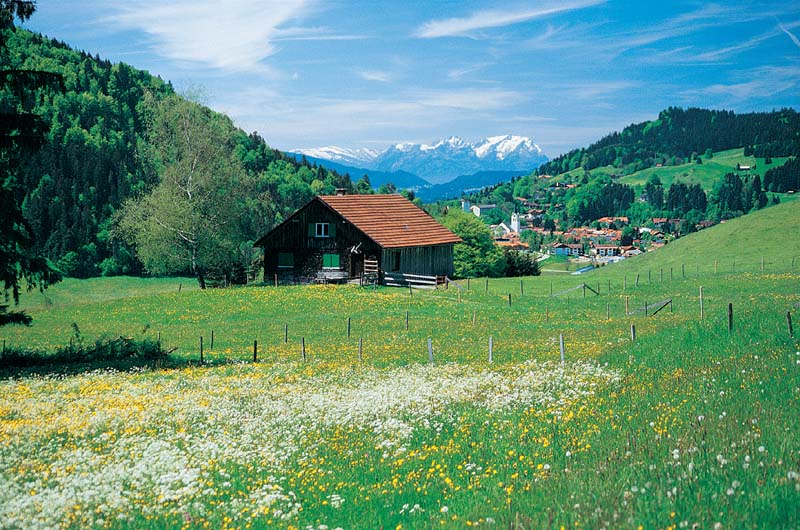
M 461 239 L 402 195 L 315 197 L 259 239 L 264 277 L 377 278 L 387 284 L 453 275 Z

